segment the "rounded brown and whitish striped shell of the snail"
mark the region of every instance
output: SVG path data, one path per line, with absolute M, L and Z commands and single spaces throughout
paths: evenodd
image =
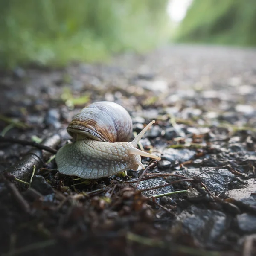
M 132 132 L 132 120 L 121 105 L 102 101 L 83 108 L 67 127 L 75 140 L 86 137 L 105 142 L 128 141 Z

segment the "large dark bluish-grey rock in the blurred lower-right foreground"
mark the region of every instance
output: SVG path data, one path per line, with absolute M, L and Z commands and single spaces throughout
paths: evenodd
M 212 247 L 229 226 L 230 220 L 223 212 L 192 205 L 177 216 L 172 232 L 188 234 L 207 247 Z

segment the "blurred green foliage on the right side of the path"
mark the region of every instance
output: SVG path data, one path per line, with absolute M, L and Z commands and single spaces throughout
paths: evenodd
M 255 0 L 194 0 L 177 41 L 255 46 L 255 24 Z

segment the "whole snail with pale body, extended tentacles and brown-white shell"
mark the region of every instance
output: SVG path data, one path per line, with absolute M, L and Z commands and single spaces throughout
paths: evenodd
M 128 169 L 137 170 L 140 156 L 161 158 L 136 148 L 153 120 L 128 142 L 132 120 L 121 105 L 95 102 L 83 108 L 67 127 L 74 142 L 64 145 L 56 154 L 58 171 L 84 179 L 108 177 Z

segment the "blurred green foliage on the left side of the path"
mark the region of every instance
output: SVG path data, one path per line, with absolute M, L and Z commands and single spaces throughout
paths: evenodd
M 64 65 L 166 40 L 168 0 L 0 0 L 0 66 Z

